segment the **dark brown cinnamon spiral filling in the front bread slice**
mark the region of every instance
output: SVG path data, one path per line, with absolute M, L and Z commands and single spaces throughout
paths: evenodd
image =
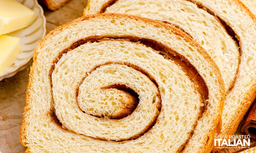
M 52 67 L 49 70 L 51 90 L 52 90 L 52 86 L 53 86 L 52 78 L 51 78 L 52 77 L 52 73 L 53 73 L 53 70 L 55 69 L 56 63 L 58 63 L 58 61 L 61 59 L 63 54 L 66 54 L 67 52 L 72 51 L 73 49 L 75 49 L 75 48 L 79 47 L 80 45 L 83 45 L 83 44 L 85 44 L 87 42 L 92 43 L 92 42 L 101 42 L 101 41 L 105 41 L 105 40 L 111 40 L 111 41 L 130 41 L 130 42 L 134 42 L 134 43 L 140 43 L 140 44 L 143 44 L 143 45 L 145 45 L 147 47 L 152 48 L 156 52 L 159 52 L 159 54 L 162 55 L 165 59 L 174 61 L 189 76 L 189 78 L 192 80 L 192 82 L 197 87 L 196 90 L 200 94 L 200 97 L 201 97 L 201 100 L 202 100 L 201 103 L 203 103 L 203 107 L 200 108 L 201 109 L 201 113 L 198 116 L 197 120 L 200 119 L 200 117 L 202 116 L 204 110 L 207 109 L 206 106 L 207 106 L 207 99 L 208 99 L 208 88 L 207 88 L 207 85 L 206 85 L 205 81 L 199 75 L 198 70 L 196 70 L 196 68 L 191 63 L 189 63 L 189 61 L 184 56 L 180 55 L 179 53 L 177 53 L 175 50 L 169 48 L 168 46 L 163 45 L 162 43 L 157 42 L 156 40 L 153 40 L 153 39 L 138 38 L 138 37 L 135 37 L 135 36 L 89 36 L 89 37 L 77 40 L 76 42 L 73 42 L 70 45 L 70 47 L 68 47 L 68 48 L 64 49 L 63 51 L 61 51 L 59 53 L 59 56 L 56 57 L 55 60 L 53 60 Z M 103 65 L 98 65 L 98 66 L 94 67 L 90 72 L 93 72 L 98 67 L 101 67 L 101 66 L 104 66 L 104 65 L 108 65 L 108 64 L 125 65 L 125 66 L 131 67 L 131 68 L 133 68 L 135 70 L 138 70 L 140 73 L 143 73 L 144 75 L 146 75 L 155 84 L 155 86 L 158 89 L 157 96 L 159 97 L 160 101 L 152 101 L 152 103 L 156 102 L 157 103 L 156 104 L 157 109 L 159 111 L 162 111 L 161 110 L 161 96 L 159 94 L 158 84 L 155 81 L 155 79 L 148 72 L 146 72 L 142 68 L 140 68 L 140 67 L 138 67 L 136 65 L 133 65 L 131 63 L 116 63 L 116 62 L 112 62 L 112 61 L 110 61 L 108 63 L 104 63 Z M 76 95 L 75 95 L 76 100 L 77 100 L 77 97 L 78 97 L 78 94 L 79 94 L 79 92 L 78 92 L 79 91 L 79 87 L 83 83 L 83 81 L 84 81 L 84 79 L 86 77 L 87 76 L 83 77 L 83 79 L 80 81 L 80 83 L 78 83 L 78 86 L 75 89 L 75 91 L 76 91 Z M 129 87 L 123 85 L 123 84 L 113 84 L 113 85 L 108 86 L 108 87 L 102 87 L 102 89 L 110 89 L 110 88 L 115 88 L 117 90 L 122 90 L 125 93 L 130 94 L 131 95 L 131 99 L 133 99 L 131 106 L 128 107 L 128 111 L 127 111 L 128 113 L 119 114 L 117 116 L 110 117 L 110 119 L 111 120 L 118 120 L 118 119 L 121 119 L 121 118 L 129 116 L 136 109 L 136 107 L 137 107 L 137 105 L 139 103 L 139 95 L 138 95 L 138 93 L 136 93 L 133 89 L 131 89 L 131 88 L 129 88 Z M 51 93 L 52 93 L 52 91 L 51 91 Z M 52 97 L 53 97 L 53 95 L 52 95 Z M 82 110 L 80 108 L 80 106 L 78 104 L 78 100 L 77 100 L 77 105 L 78 105 L 79 109 L 82 112 L 86 113 L 84 110 Z M 92 114 L 90 114 L 90 115 L 92 115 Z M 100 118 L 101 117 L 105 117 L 102 114 L 96 114 L 96 115 L 94 114 L 93 116 L 100 117 Z M 52 118 L 53 122 L 56 122 L 56 124 L 60 125 L 59 127 L 63 128 L 64 130 L 68 130 L 65 127 L 62 126 L 62 123 L 60 123 L 60 120 L 55 115 L 54 100 L 53 100 L 53 104 L 52 104 L 52 109 L 49 112 L 49 117 Z M 155 123 L 157 121 L 158 121 L 158 115 L 155 117 L 155 120 L 152 121 L 149 125 L 147 125 L 145 127 L 145 129 L 141 133 L 139 133 L 138 135 L 135 135 L 133 137 L 130 137 L 130 138 L 127 138 L 127 139 L 124 139 L 124 140 L 118 140 L 118 141 L 128 141 L 128 140 L 133 140 L 133 139 L 139 138 L 143 134 L 147 133 L 155 125 Z M 193 124 L 193 127 L 195 127 L 196 124 L 197 124 L 197 122 Z M 191 133 L 190 134 L 190 137 L 191 137 L 191 135 L 193 134 L 193 131 L 191 131 L 190 133 Z M 96 139 L 100 139 L 100 138 L 96 138 Z M 104 139 L 100 139 L 100 140 L 104 140 Z M 181 150 L 184 148 L 184 146 L 186 146 L 186 143 L 188 142 L 188 140 L 189 140 L 189 138 L 187 138 L 186 142 L 182 145 Z M 104 141 L 115 141 L 115 140 L 104 140 Z

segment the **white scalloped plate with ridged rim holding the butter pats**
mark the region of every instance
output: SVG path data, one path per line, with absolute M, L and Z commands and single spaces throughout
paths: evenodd
M 43 15 L 43 9 L 38 4 L 37 0 L 16 0 L 28 8 L 36 12 L 36 15 L 32 23 L 24 29 L 11 32 L 7 35 L 16 36 L 20 38 L 22 51 L 18 58 L 15 60 L 14 65 L 12 65 L 6 72 L 0 74 L 0 81 L 4 78 L 14 76 L 18 71 L 23 70 L 29 60 L 32 58 L 34 50 L 38 42 L 46 34 L 46 19 Z

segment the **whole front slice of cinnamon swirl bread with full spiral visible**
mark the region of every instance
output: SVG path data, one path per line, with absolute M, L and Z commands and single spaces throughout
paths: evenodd
M 210 152 L 224 81 L 186 33 L 133 15 L 75 19 L 39 42 L 20 139 L 27 152 Z

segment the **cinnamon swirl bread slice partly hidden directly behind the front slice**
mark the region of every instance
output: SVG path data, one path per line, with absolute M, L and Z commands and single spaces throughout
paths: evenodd
M 256 91 L 256 19 L 240 1 L 90 0 L 84 9 L 84 15 L 103 12 L 159 20 L 179 27 L 202 45 L 225 83 L 221 134 L 234 134 Z

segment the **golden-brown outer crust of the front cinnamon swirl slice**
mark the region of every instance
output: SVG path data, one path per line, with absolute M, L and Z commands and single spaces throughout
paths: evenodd
M 193 41 L 192 38 L 190 38 L 189 36 L 187 36 L 185 33 L 183 33 L 180 30 L 177 29 L 173 29 L 171 26 L 166 25 L 162 22 L 158 22 L 158 21 L 154 21 L 154 20 L 150 20 L 147 18 L 142 18 L 142 17 L 137 17 L 137 16 L 133 16 L 133 15 L 125 15 L 125 14 L 114 14 L 114 13 L 105 13 L 105 14 L 94 14 L 94 15 L 89 15 L 89 16 L 85 16 L 85 17 L 81 17 L 78 19 L 75 19 L 73 21 L 70 21 L 64 25 L 61 25 L 59 27 L 57 27 L 56 29 L 54 29 L 53 31 L 49 32 L 38 44 L 38 46 L 35 49 L 35 53 L 33 55 L 33 64 L 30 70 L 30 75 L 29 75 L 29 83 L 28 83 L 28 88 L 27 88 L 27 93 L 26 93 L 26 106 L 24 108 L 24 114 L 23 114 L 23 118 L 22 118 L 22 125 L 21 125 L 21 132 L 20 132 L 20 140 L 21 143 L 24 146 L 28 146 L 28 140 L 26 138 L 26 127 L 29 126 L 29 114 L 32 113 L 30 112 L 31 107 L 33 107 L 32 103 L 33 103 L 33 99 L 31 98 L 31 94 L 32 94 L 32 88 L 33 88 L 33 80 L 36 79 L 36 77 L 34 76 L 35 74 L 35 70 L 34 70 L 34 66 L 38 65 L 39 63 L 37 62 L 38 59 L 38 54 L 40 53 L 40 49 L 44 48 L 47 44 L 47 39 L 49 39 L 50 37 L 54 36 L 54 35 L 58 35 L 60 32 L 65 31 L 65 29 L 67 29 L 70 25 L 75 25 L 78 22 L 82 22 L 84 20 L 90 20 L 93 18 L 125 18 L 127 20 L 139 20 L 140 22 L 145 22 L 148 23 L 150 22 L 150 24 L 155 25 L 155 26 L 159 26 L 162 27 L 164 29 L 166 29 L 167 31 L 172 31 L 174 32 L 176 35 L 187 39 L 189 42 L 191 42 L 191 44 L 193 46 L 196 46 L 196 48 L 198 48 L 198 53 L 200 53 L 204 59 L 208 62 L 208 63 L 214 63 L 214 61 L 212 60 L 212 58 L 209 56 L 209 54 L 196 42 Z M 219 84 L 219 93 L 220 95 L 218 97 L 220 97 L 220 101 L 218 102 L 220 104 L 220 106 L 218 107 L 218 112 L 215 112 L 218 115 L 215 115 L 215 118 L 213 118 L 213 122 L 214 122 L 214 127 L 211 129 L 212 131 L 209 131 L 210 137 L 214 136 L 214 133 L 220 130 L 220 126 L 221 126 L 221 113 L 223 110 L 223 104 L 224 104 L 224 83 L 223 83 L 223 79 L 221 78 L 221 74 L 220 71 L 218 69 L 218 67 L 216 66 L 216 64 L 211 64 L 210 65 L 210 69 L 213 70 L 213 73 L 215 73 L 215 75 L 217 76 L 217 84 Z M 209 136 L 205 135 L 204 137 L 205 143 L 204 148 L 200 148 L 201 150 L 199 152 L 210 152 L 210 150 L 212 149 L 212 145 L 209 145 L 209 143 L 213 143 L 212 142 L 207 142 L 207 140 L 209 140 Z M 27 150 L 29 151 L 29 150 Z

